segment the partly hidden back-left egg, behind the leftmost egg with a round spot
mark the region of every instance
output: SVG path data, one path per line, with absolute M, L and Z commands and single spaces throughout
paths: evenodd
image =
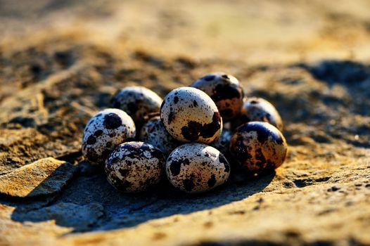
M 117 91 L 111 103 L 134 119 L 136 127 L 141 127 L 144 117 L 151 112 L 159 112 L 162 98 L 143 86 L 128 86 Z

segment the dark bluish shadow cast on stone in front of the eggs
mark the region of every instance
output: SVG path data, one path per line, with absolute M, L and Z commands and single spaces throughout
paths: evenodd
M 232 180 L 205 194 L 181 193 L 167 179 L 144 193 L 125 194 L 110 186 L 103 169 L 87 169 L 89 167 L 83 164 L 77 178 L 72 179 L 51 202 L 42 202 L 47 197 L 25 199 L 27 205 L 24 202 L 8 202 L 8 205 L 15 206 L 11 218 L 20 222 L 53 219 L 58 226 L 72 227 L 72 232 L 129 228 L 151 219 L 190 214 L 243 200 L 263 190 L 275 175 L 250 177 L 246 181 Z

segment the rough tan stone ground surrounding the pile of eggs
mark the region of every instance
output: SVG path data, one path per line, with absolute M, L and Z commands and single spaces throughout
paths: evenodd
M 370 245 L 368 1 L 170 2 L 0 1 L 0 179 L 45 157 L 78 170 L 42 198 L 2 195 L 0 245 Z M 117 89 L 165 96 L 215 71 L 281 113 L 276 173 L 125 195 L 81 160 Z

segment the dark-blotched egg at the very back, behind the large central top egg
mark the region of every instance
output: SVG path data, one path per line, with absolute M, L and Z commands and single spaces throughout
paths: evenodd
M 215 101 L 225 122 L 240 113 L 244 93 L 236 77 L 224 72 L 215 72 L 201 77 L 191 86 L 204 91 Z

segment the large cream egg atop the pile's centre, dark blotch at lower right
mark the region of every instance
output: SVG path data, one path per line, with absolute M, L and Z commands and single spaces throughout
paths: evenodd
M 160 107 L 165 129 L 183 142 L 210 143 L 222 131 L 217 106 L 203 91 L 179 87 L 167 94 Z

